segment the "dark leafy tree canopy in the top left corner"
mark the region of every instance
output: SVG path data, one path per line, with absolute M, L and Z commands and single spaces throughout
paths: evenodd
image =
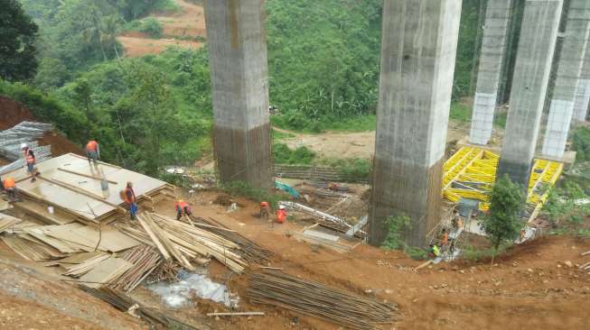
M 32 78 L 37 69 L 35 40 L 39 28 L 17 0 L 0 0 L 0 78 Z

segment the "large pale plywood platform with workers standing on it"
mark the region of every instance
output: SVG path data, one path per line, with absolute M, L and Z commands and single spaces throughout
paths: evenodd
M 25 211 L 55 224 L 54 216 L 40 210 L 52 206 L 54 212 L 68 215 L 67 221 L 85 224 L 111 222 L 126 213 L 119 192 L 133 183 L 138 202 L 148 206 L 161 198 L 173 196 L 173 187 L 164 181 L 131 170 L 98 161 L 89 163 L 85 157 L 69 153 L 37 164 L 41 175 L 32 182 L 25 169 L 14 170 L 8 176 L 16 180 L 16 188 L 26 197 L 21 205 Z M 101 181 L 108 183 L 102 189 Z

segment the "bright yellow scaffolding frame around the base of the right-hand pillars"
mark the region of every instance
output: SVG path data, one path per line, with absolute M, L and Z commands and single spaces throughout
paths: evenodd
M 458 203 L 461 198 L 481 201 L 480 210 L 490 207 L 489 192 L 496 180 L 500 155 L 476 147 L 462 147 L 446 160 L 443 179 L 443 196 Z M 550 160 L 535 160 L 530 173 L 527 204 L 531 206 L 529 221 L 537 217 L 547 202 L 549 189 L 555 185 L 563 172 L 563 163 Z

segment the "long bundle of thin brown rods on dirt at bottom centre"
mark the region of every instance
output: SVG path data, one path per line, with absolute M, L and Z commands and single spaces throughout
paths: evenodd
M 248 298 L 255 304 L 283 307 L 351 329 L 373 329 L 391 324 L 395 304 L 381 303 L 342 289 L 298 279 L 277 270 L 253 273 Z

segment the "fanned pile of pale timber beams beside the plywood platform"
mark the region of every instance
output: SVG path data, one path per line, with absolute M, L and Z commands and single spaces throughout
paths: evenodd
M 174 260 L 194 270 L 192 262 L 205 264 L 212 257 L 236 273 L 248 266 L 239 254 L 239 244 L 218 234 L 155 213 L 144 213 L 138 219 L 141 229 L 121 230 L 139 242 L 155 246 L 165 261 Z

